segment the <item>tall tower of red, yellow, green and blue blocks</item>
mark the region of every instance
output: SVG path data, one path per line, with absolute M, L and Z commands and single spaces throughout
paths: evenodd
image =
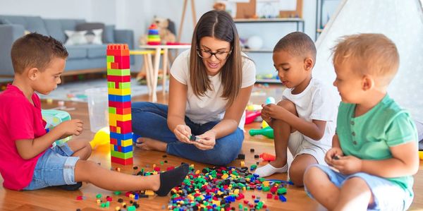
M 107 46 L 111 162 L 133 164 L 130 63 L 127 44 Z

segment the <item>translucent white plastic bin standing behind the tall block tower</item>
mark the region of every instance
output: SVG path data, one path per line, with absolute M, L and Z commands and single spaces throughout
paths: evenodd
M 109 95 L 107 88 L 90 88 L 87 95 L 88 113 L 90 114 L 90 130 L 97 133 L 101 128 L 109 126 Z

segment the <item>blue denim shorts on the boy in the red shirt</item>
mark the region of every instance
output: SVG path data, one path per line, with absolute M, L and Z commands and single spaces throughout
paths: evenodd
M 47 149 L 37 161 L 31 183 L 23 189 L 75 184 L 75 164 L 79 157 L 71 157 L 72 154 L 68 143 Z

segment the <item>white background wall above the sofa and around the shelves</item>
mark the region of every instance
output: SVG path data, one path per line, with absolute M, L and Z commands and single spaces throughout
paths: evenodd
M 182 30 L 181 42 L 190 42 L 193 31 L 191 2 L 188 0 L 187 11 Z M 197 20 L 212 9 L 214 0 L 195 0 Z M 333 6 L 332 6 L 333 7 Z M 175 22 L 176 30 L 182 17 L 183 0 L 0 0 L 0 14 L 41 16 L 42 18 L 84 18 L 87 21 L 98 21 L 114 24 L 118 29 L 132 29 L 135 43 L 147 33 L 147 28 L 154 16 L 170 18 Z M 314 39 L 316 1 L 303 0 L 303 18 L 305 32 Z M 324 20 L 326 13 L 324 12 Z M 295 30 L 293 23 L 237 24 L 240 37 L 259 35 L 264 40 L 264 47 L 272 48 L 276 42 Z M 250 54 L 257 64 L 259 73 L 274 73 L 270 54 Z M 137 59 L 137 66 L 140 62 Z

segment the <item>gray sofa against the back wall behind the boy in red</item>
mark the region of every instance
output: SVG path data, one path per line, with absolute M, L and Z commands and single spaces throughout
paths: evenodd
M 11 64 L 11 45 L 25 30 L 66 42 L 64 30 L 75 30 L 75 27 L 85 23 L 82 19 L 48 19 L 39 16 L 0 16 L 0 76 L 13 76 Z M 126 43 L 133 49 L 133 30 L 116 30 L 114 25 L 106 25 L 103 31 L 104 44 L 84 44 L 66 46 L 69 57 L 64 75 L 106 71 L 107 43 Z M 133 59 L 131 59 L 133 64 Z

